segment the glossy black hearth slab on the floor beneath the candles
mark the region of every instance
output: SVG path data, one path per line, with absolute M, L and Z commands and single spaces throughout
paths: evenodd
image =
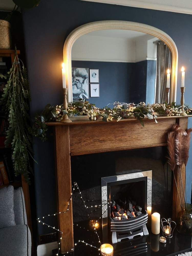
M 79 223 L 79 225 L 81 225 Z M 79 228 L 77 228 L 79 230 Z M 76 233 L 76 227 L 74 232 Z M 86 242 L 90 241 L 94 234 L 90 235 L 87 233 Z M 162 236 L 162 232 L 158 235 L 154 235 L 149 230 L 148 236 L 143 236 L 136 239 L 126 240 L 113 244 L 114 256 L 174 256 L 187 251 L 192 251 L 192 237 L 179 234 L 176 230 L 174 231 L 173 237 L 167 239 L 166 245 L 159 242 L 159 236 Z M 92 237 L 93 238 L 93 237 Z M 95 247 L 99 248 L 99 243 L 92 243 Z M 57 250 L 53 251 L 55 255 Z M 59 254 L 68 256 L 98 256 L 101 255 L 99 250 L 86 246 L 86 244 L 79 243 L 74 252 L 68 254 Z

